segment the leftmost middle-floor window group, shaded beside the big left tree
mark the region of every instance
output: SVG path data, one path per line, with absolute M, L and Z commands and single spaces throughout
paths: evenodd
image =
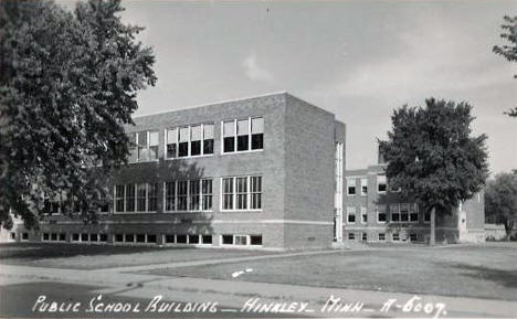
M 115 185 L 115 212 L 155 212 L 158 184 L 118 184 Z

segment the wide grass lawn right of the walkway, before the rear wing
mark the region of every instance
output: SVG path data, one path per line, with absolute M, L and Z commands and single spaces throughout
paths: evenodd
M 231 274 L 253 268 L 238 278 Z M 517 300 L 517 243 L 386 247 L 154 269 L 151 274 Z

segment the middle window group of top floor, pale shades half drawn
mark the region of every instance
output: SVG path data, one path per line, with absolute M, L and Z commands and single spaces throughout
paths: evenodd
M 166 158 L 213 155 L 213 124 L 198 124 L 166 130 Z

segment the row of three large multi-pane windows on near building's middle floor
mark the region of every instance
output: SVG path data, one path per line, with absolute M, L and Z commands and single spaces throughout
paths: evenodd
M 157 183 L 117 184 L 115 185 L 115 212 L 156 212 L 157 192 Z M 163 183 L 166 212 L 212 211 L 212 179 Z M 222 178 L 221 210 L 262 210 L 262 177 Z

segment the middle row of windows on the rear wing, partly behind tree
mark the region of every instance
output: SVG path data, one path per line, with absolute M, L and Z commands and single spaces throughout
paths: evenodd
M 377 205 L 377 222 L 388 222 L 388 208 L 390 212 L 391 223 L 418 223 L 419 222 L 419 208 L 416 204 L 410 203 L 394 203 L 388 205 Z M 347 206 L 347 222 L 355 224 L 356 219 L 356 206 Z M 362 224 L 368 223 L 368 211 L 366 206 L 360 208 L 360 222 Z M 429 213 L 424 213 L 424 222 L 431 222 Z

